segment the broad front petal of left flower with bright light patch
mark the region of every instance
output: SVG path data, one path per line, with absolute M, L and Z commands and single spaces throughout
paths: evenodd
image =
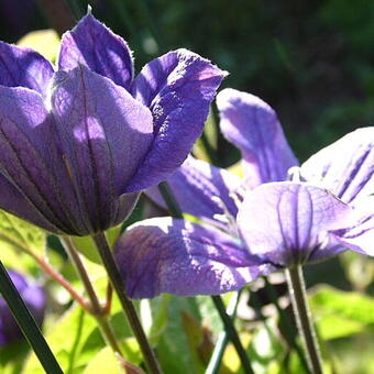
M 89 231 L 105 230 L 116 219 L 113 201 L 153 140 L 151 112 L 124 88 L 82 65 L 56 74 L 52 111 L 69 183 L 90 218 Z

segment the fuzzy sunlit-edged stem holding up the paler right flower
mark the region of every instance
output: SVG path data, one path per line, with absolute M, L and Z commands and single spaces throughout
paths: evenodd
M 301 265 L 287 268 L 286 277 L 297 328 L 305 343 L 309 370 L 312 374 L 322 374 L 322 360 L 308 306 Z

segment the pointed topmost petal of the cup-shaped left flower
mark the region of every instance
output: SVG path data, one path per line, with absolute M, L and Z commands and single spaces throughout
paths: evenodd
M 91 14 L 84 16 L 62 40 L 59 69 L 72 69 L 79 64 L 127 89 L 133 79 L 128 44 Z

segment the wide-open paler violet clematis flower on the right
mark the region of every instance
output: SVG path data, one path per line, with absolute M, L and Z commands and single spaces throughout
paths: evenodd
M 298 167 L 264 101 L 226 89 L 218 108 L 223 134 L 242 152 L 244 180 L 193 157 L 173 174 L 182 209 L 202 221 L 156 218 L 129 228 L 116 255 L 131 297 L 221 294 L 346 249 L 373 254 L 374 128 Z M 163 205 L 155 189 L 147 194 Z

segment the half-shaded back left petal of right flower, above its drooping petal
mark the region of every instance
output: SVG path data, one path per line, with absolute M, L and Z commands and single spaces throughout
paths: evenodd
M 242 180 L 234 174 L 189 156 L 167 182 L 184 212 L 213 220 L 215 215 L 224 213 L 221 204 L 212 200 L 216 197 L 232 217 L 237 217 L 238 207 L 231 194 Z M 157 186 L 146 189 L 145 194 L 158 206 L 167 208 Z

